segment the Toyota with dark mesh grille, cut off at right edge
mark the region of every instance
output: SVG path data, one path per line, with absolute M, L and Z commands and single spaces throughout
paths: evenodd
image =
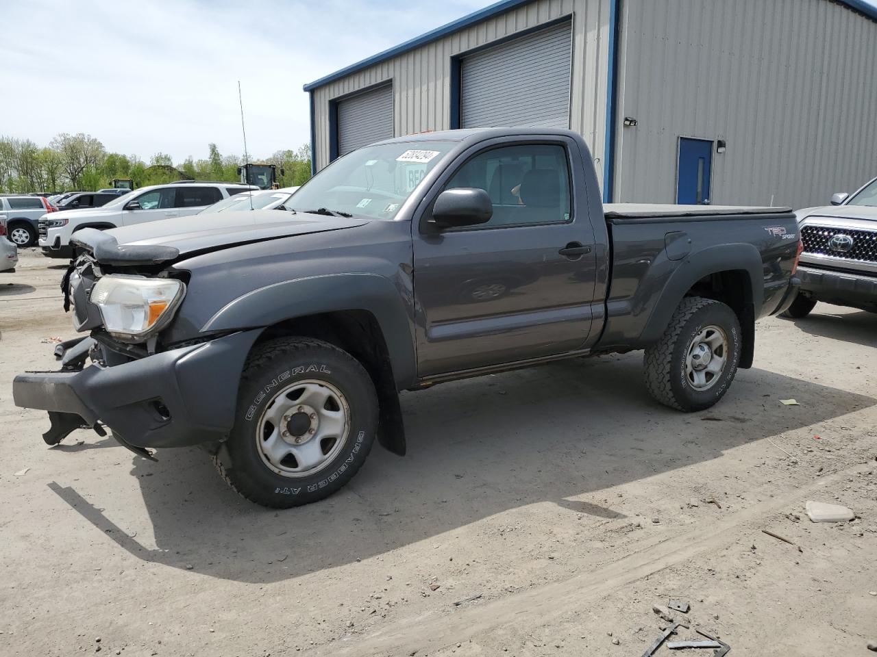
M 877 178 L 831 206 L 796 213 L 803 253 L 801 291 L 786 314 L 805 317 L 816 301 L 877 313 Z

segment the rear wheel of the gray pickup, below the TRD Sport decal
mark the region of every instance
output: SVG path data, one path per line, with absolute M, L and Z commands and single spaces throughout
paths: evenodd
M 686 297 L 664 335 L 645 349 L 649 394 L 686 413 L 713 406 L 737 374 L 740 338 L 740 322 L 730 307 Z

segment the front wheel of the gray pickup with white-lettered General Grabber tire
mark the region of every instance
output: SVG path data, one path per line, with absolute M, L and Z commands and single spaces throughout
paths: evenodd
M 234 427 L 214 463 L 256 504 L 306 505 L 350 481 L 377 426 L 374 385 L 356 359 L 320 340 L 279 338 L 247 359 Z

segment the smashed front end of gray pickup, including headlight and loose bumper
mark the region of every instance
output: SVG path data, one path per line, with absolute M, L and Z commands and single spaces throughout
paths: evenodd
M 60 371 L 18 375 L 16 405 L 48 412 L 43 440 L 49 445 L 78 428 L 106 435 L 104 426 L 146 458 L 153 458 L 154 448 L 225 440 L 240 371 L 260 331 L 162 343 L 161 331 L 185 295 L 181 272 L 165 266 L 176 250 L 126 248 L 106 233 L 81 232 L 77 243 L 85 252 L 65 275 L 63 289 L 74 328 L 89 336 L 56 346 Z

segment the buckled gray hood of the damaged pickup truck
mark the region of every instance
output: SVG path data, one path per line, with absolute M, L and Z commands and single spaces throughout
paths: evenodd
M 71 241 L 92 251 L 99 262 L 106 264 L 155 264 L 194 252 L 367 223 L 362 219 L 284 210 L 241 210 L 175 217 L 104 231 L 83 229 Z

